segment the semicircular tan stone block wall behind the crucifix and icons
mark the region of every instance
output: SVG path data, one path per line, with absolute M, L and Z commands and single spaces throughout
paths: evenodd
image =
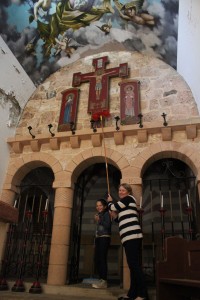
M 167 114 L 167 120 L 184 120 L 198 116 L 197 105 L 192 93 L 182 77 L 163 61 L 139 54 L 137 52 L 104 52 L 101 57 L 108 56 L 107 68 L 128 63 L 130 79 L 136 79 L 140 84 L 140 105 L 144 122 L 162 122 L 161 114 Z M 26 135 L 27 127 L 32 126 L 34 134 L 48 132 L 48 124 L 57 131 L 61 92 L 72 87 L 73 73 L 93 71 L 92 60 L 100 55 L 89 56 L 79 60 L 51 75 L 41 84 L 28 101 L 21 116 L 17 135 Z M 119 115 L 119 85 L 120 78 L 110 80 L 110 112 L 111 120 L 108 126 L 114 126 L 114 116 Z M 90 127 L 90 115 L 87 113 L 89 84 L 80 86 L 80 100 L 77 114 L 77 130 Z

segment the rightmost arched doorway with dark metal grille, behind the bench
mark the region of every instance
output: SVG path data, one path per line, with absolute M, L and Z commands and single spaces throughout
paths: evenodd
M 143 266 L 155 282 L 155 263 L 165 258 L 164 239 L 196 239 L 199 232 L 196 177 L 181 160 L 164 158 L 143 174 Z

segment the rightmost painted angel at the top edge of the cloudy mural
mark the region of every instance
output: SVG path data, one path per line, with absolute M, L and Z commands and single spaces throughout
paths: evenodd
M 127 21 L 132 21 L 138 25 L 154 25 L 154 17 L 147 11 L 142 10 L 144 0 L 133 0 L 129 3 L 122 4 L 119 0 L 113 0 L 120 14 L 120 17 Z

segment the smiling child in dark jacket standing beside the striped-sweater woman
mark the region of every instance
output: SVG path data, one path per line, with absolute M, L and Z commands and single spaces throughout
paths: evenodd
M 107 288 L 107 254 L 111 237 L 111 217 L 107 202 L 104 199 L 97 200 L 96 210 L 97 214 L 94 216 L 97 224 L 95 236 L 95 265 L 100 280 L 94 283 L 92 287 L 98 289 Z

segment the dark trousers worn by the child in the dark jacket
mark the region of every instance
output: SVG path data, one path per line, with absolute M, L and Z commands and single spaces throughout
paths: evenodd
M 107 255 L 110 246 L 110 237 L 99 237 L 95 239 L 95 266 L 99 278 L 107 280 Z

